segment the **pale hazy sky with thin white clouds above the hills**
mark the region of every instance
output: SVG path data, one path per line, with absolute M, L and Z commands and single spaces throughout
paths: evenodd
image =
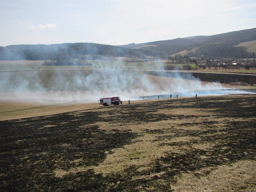
M 0 0 L 0 46 L 123 45 L 255 27 L 255 0 Z

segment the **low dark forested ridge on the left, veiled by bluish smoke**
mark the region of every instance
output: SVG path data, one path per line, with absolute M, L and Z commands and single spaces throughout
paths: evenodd
M 145 55 L 156 55 L 155 51 L 134 50 L 114 45 L 95 43 L 64 43 L 64 44 L 36 44 L 9 45 L 0 48 L 0 60 L 61 60 L 62 58 L 99 59 L 104 57 L 138 57 L 145 59 Z

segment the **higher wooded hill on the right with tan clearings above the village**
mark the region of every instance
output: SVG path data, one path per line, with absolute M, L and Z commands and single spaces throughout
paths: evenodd
M 152 52 L 157 51 L 159 55 L 165 56 L 186 52 L 188 56 L 204 56 L 207 58 L 244 58 L 248 56 L 246 48 L 235 45 L 254 40 L 256 40 L 256 28 L 212 36 L 191 36 L 172 40 L 153 41 L 143 43 L 143 46 L 141 44 L 133 44 L 131 48 Z

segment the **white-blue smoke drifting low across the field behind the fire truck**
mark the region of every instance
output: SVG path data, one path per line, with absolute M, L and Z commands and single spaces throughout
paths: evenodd
M 140 70 L 38 70 L 2 72 L 0 100 L 61 103 L 97 102 L 103 97 L 119 96 L 122 100 L 138 97 L 198 91 L 204 95 L 227 94 L 220 83 L 206 83 L 191 75 L 174 73 L 172 77 L 147 75 Z M 160 79 L 160 81 L 159 81 Z M 185 95 L 184 95 L 185 96 Z

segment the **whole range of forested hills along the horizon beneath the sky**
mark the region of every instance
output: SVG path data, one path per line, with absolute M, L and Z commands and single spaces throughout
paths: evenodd
M 0 47 L 0 60 L 61 60 L 66 57 L 100 59 L 102 56 L 141 59 L 152 56 L 166 59 L 175 54 L 209 59 L 245 58 L 255 50 L 255 40 L 256 28 L 252 28 L 212 36 L 190 36 L 119 46 L 95 43 L 9 45 Z

